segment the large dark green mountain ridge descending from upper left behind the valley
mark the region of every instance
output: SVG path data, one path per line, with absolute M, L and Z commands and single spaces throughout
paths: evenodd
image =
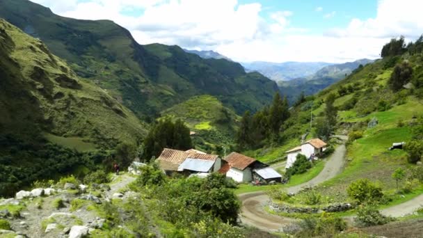
M 256 111 L 278 90 L 273 81 L 246 73 L 238 63 L 203 59 L 177 46 L 139 45 L 111 21 L 60 17 L 27 0 L 1 0 L 0 17 L 40 38 L 80 77 L 107 90 L 143 120 L 204 94 L 237 113 Z

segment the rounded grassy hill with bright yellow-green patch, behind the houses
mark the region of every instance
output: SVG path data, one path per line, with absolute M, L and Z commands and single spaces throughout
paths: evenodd
M 161 113 L 184 120 L 191 131 L 194 143 L 203 150 L 215 150 L 214 146 L 233 145 L 239 116 L 226 108 L 211 95 L 192 97 L 186 102 L 177 104 Z

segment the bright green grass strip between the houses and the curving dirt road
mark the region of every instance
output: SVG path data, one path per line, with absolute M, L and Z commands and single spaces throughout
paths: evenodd
M 235 194 L 241 193 L 250 193 L 254 191 L 267 191 L 271 188 L 278 189 L 287 189 L 289 187 L 296 186 L 298 184 L 303 184 L 312 180 L 313 177 L 316 177 L 321 170 L 324 168 L 324 161 L 319 161 L 313 168 L 310 168 L 306 173 L 300 175 L 293 175 L 287 184 L 276 184 L 276 185 L 263 185 L 263 186 L 253 186 L 251 184 L 239 184 L 238 188 L 235 189 Z

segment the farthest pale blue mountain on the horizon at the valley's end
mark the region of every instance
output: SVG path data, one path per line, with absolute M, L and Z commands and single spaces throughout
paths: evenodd
M 321 68 L 332 65 L 325 62 L 251 62 L 241 63 L 248 72 L 257 71 L 274 81 L 289 81 L 296 78 L 307 77 Z

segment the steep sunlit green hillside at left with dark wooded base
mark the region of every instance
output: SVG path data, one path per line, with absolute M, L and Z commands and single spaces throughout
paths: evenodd
M 146 134 L 125 106 L 3 19 L 0 78 L 0 196 L 101 162 L 82 150 L 135 144 Z

